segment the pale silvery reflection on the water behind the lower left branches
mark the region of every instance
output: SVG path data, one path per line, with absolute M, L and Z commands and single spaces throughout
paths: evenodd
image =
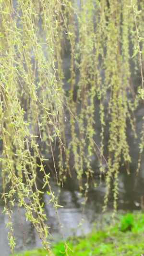
M 53 183 L 52 185 L 55 190 L 55 195 L 57 195 L 58 189 L 57 186 Z M 48 204 L 49 195 L 45 194 L 43 196 L 45 202 L 45 213 L 47 214 L 48 226 L 50 227 L 49 232 L 52 236 L 52 243 L 56 243 L 62 239 L 60 233 L 59 222 L 56 216 L 55 208 L 52 204 Z M 81 205 L 81 200 L 84 198 L 79 198 L 77 192 L 70 192 L 64 190 L 60 194 L 59 204 L 63 205 L 58 209 L 60 222 L 63 226 L 64 237 L 67 238 L 70 235 L 80 236 L 82 234 L 88 233 L 91 230 L 91 216 L 87 218 L 86 214 L 82 215 L 83 207 Z M 3 207 L 0 206 L 0 212 L 2 212 Z M 90 213 L 90 211 L 89 211 Z M 82 217 L 85 219 L 83 225 L 78 227 L 81 222 Z M 8 256 L 11 251 L 8 245 L 6 227 L 6 216 L 5 214 L 0 214 L 0 255 Z M 13 223 L 13 235 L 16 237 L 16 251 L 22 251 L 25 249 L 31 249 L 35 247 L 42 246 L 41 241 L 33 227 L 32 223 L 25 220 L 25 210 L 20 208 L 20 214 L 18 208 L 13 208 L 12 214 L 12 223 Z M 25 235 L 24 235 L 25 233 Z M 26 246 L 24 245 L 24 240 Z

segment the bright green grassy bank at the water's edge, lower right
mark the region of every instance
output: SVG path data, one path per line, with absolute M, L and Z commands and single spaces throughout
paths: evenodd
M 94 230 L 85 237 L 70 238 L 69 256 L 140 256 L 144 253 L 144 214 L 119 216 L 115 225 Z M 53 246 L 55 256 L 65 256 L 64 244 Z M 18 256 L 46 256 L 43 249 L 27 251 Z

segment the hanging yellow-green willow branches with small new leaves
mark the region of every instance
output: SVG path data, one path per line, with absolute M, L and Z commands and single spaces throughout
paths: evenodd
M 80 191 L 85 195 L 84 204 L 89 179 L 94 181 L 93 157 L 99 161 L 101 174 L 106 171 L 103 167 L 106 163 L 104 209 L 112 181 L 116 211 L 121 162 L 125 163 L 129 173 L 131 156 L 127 121 L 131 123 L 136 138 L 134 111 L 143 98 L 144 90 L 143 1 L 80 2 L 79 6 L 76 0 L 0 0 L 0 140 L 3 145 L 0 162 L 5 203 L 3 212 L 7 216 L 12 250 L 15 246 L 12 207 L 17 204 L 25 208 L 26 220 L 33 223 L 51 254 L 45 222 L 47 217 L 40 200 L 44 188 L 50 195 L 48 203 L 55 207 L 62 233 L 58 200 L 49 183 L 50 173 L 45 170 L 49 158 L 53 159 L 58 185 L 62 186 L 63 179 L 72 176 L 72 170 L 76 172 Z M 130 55 L 130 43 L 135 47 L 133 56 Z M 62 69 L 64 45 L 70 48 L 71 54 L 70 77 L 66 81 L 68 92 L 65 91 Z M 140 62 L 142 75 L 142 88 L 135 97 L 130 85 L 131 57 L 135 70 Z M 101 72 L 105 74 L 103 79 Z M 100 146 L 96 144 L 96 99 L 100 102 Z M 104 157 L 106 123 L 109 127 L 107 159 Z M 71 131 L 69 141 L 66 140 L 68 128 Z M 59 150 L 55 154 L 56 147 Z M 143 148 L 144 127 L 137 171 Z M 71 156 L 73 165 L 70 165 Z M 59 158 L 57 165 L 56 157 Z M 36 183 L 37 167 L 44 174 L 41 190 Z M 65 240 L 64 244 L 67 254 Z

